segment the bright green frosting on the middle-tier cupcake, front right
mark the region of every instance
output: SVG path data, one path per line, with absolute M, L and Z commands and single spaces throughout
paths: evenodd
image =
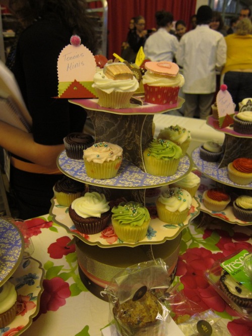
M 149 151 L 147 155 L 158 159 L 170 160 L 171 158 L 178 159 L 182 156 L 181 148 L 170 140 L 153 139 L 147 149 Z

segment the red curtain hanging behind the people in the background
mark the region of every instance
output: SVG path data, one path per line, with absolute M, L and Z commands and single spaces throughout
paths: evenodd
M 156 27 L 156 11 L 171 12 L 174 21 L 184 20 L 191 29 L 190 18 L 195 14 L 197 0 L 107 0 L 108 3 L 108 51 L 107 58 L 114 59 L 113 52 L 120 55 L 121 43 L 125 41 L 132 17 L 142 15 L 146 29 Z

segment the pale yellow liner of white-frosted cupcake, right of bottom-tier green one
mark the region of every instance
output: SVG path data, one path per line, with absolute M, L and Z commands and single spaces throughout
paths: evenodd
M 165 223 L 169 223 L 169 224 L 179 224 L 182 223 L 187 215 L 190 209 L 185 209 L 183 211 L 174 211 L 171 212 L 169 210 L 167 210 L 165 208 L 165 205 L 159 201 L 156 202 L 156 206 L 157 206 L 157 214 L 158 214 L 158 218 L 165 222 Z

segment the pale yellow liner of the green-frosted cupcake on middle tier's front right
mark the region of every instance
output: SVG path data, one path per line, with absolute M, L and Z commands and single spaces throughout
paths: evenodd
M 144 164 L 146 173 L 154 176 L 171 176 L 177 171 L 180 159 L 157 159 L 154 156 L 147 155 L 148 150 L 144 150 Z

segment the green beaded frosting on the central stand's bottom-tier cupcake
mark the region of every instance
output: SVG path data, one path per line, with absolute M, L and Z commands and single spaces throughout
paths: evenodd
M 148 209 L 137 202 L 121 202 L 112 208 L 112 213 L 112 217 L 119 225 L 141 227 L 145 221 L 150 220 Z

